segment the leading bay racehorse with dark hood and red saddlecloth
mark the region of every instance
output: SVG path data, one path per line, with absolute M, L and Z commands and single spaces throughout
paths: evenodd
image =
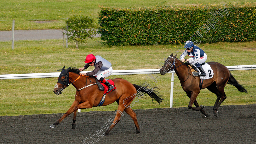
M 76 88 L 75 101 L 73 102 L 69 110 L 50 127 L 54 128 L 56 125 L 59 125 L 59 123 L 64 118 L 74 112 L 72 128 L 75 129 L 76 111 L 83 108 L 97 107 L 98 104 L 101 102 L 104 91 L 99 90 L 98 85 L 95 84 L 96 80 L 94 77 L 83 76 L 80 74 L 79 69 L 76 68 L 69 67 L 66 70 L 64 70 L 64 68 L 65 66 L 62 68 L 62 71 L 58 78 L 58 82 L 55 85 L 53 92 L 55 94 L 61 94 L 61 91 L 71 84 Z M 118 104 L 118 112 L 116 112 L 116 117 L 113 120 L 112 125 L 105 132 L 105 135 L 107 135 L 111 131 L 111 129 L 118 123 L 123 110 L 133 119 L 136 127 L 136 133 L 140 133 L 137 116 L 130 107 L 133 99 L 135 97 L 141 96 L 142 93 L 147 93 L 152 98 L 152 101 L 153 99 L 155 99 L 159 104 L 162 102 L 163 99 L 161 97 L 158 97 L 158 95 L 156 94 L 158 92 L 155 90 L 152 91 L 144 86 L 141 87 L 135 84 L 131 84 L 130 82 L 121 78 L 116 78 L 112 80 L 115 83 L 116 90 L 111 91 L 105 96 L 105 102 L 102 104 L 102 106 L 112 104 L 116 101 Z

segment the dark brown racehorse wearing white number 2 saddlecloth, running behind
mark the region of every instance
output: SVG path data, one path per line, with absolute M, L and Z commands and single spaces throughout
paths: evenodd
M 210 117 L 210 114 L 205 113 L 205 111 L 203 110 L 204 106 L 199 106 L 196 100 L 197 95 L 200 93 L 200 78 L 198 76 L 194 77 L 187 62 L 181 62 L 179 59 L 176 58 L 176 55 L 173 56 L 173 54 L 171 54 L 165 60 L 165 65 L 163 65 L 160 69 L 160 73 L 162 75 L 165 75 L 165 73 L 174 70 L 180 80 L 180 84 L 183 90 L 190 98 L 188 107 L 192 110 L 201 111 L 201 113 L 204 114 L 206 117 Z M 207 88 L 212 93 L 216 94 L 217 100 L 213 107 L 213 114 L 215 117 L 217 117 L 219 114 L 218 108 L 220 104 L 226 99 L 224 87 L 227 83 L 235 86 L 240 92 L 247 93 L 247 90 L 236 81 L 236 79 L 231 75 L 226 66 L 218 62 L 208 62 L 208 64 L 213 70 L 213 77 L 212 79 L 205 79 L 203 81 L 201 89 Z M 196 107 L 192 107 L 192 104 L 194 104 Z

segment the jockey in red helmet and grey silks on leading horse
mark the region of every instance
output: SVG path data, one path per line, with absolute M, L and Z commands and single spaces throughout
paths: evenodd
M 80 71 L 83 71 L 84 69 L 87 69 L 89 66 L 94 66 L 94 70 L 92 72 L 87 72 L 84 75 L 86 76 L 97 76 L 96 78 L 108 86 L 108 92 L 114 89 L 114 86 L 112 86 L 105 78 L 110 76 L 112 74 L 112 65 L 109 61 L 102 58 L 99 55 L 94 56 L 93 54 L 88 54 L 85 58 L 84 67 L 79 68 Z

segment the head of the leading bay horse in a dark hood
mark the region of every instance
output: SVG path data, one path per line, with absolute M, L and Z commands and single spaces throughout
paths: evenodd
M 64 70 L 65 66 L 62 68 L 60 75 L 58 77 L 58 82 L 54 86 L 53 92 L 55 94 L 61 94 L 61 91 L 64 90 L 69 85 L 69 68 Z

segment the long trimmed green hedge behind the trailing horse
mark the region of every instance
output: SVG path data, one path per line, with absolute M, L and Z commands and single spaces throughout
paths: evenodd
M 256 31 L 255 9 L 256 3 L 125 9 L 102 7 L 98 33 L 110 46 L 182 44 L 193 34 L 192 40 L 196 44 L 252 41 Z M 216 11 L 223 17 L 210 13 Z M 207 23 L 214 24 L 212 19 L 215 19 L 215 29 Z

